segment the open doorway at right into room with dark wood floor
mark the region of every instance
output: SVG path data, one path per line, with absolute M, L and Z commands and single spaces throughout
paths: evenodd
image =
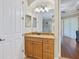
M 77 56 L 79 55 L 79 44 L 76 42 L 76 31 L 78 31 L 79 28 L 78 2 L 78 0 L 61 1 L 61 56 L 64 58 L 79 59 L 79 57 Z

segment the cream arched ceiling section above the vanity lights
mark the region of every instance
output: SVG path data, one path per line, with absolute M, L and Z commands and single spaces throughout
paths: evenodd
M 42 6 L 47 6 L 48 8 L 54 9 L 54 0 L 34 0 L 28 5 L 29 11 L 33 11 L 35 8 Z

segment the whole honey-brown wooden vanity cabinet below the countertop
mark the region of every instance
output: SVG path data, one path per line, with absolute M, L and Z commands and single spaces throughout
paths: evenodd
M 54 39 L 26 36 L 25 55 L 33 59 L 54 59 Z

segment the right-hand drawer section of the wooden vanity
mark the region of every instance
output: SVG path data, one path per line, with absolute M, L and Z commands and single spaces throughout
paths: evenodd
M 43 40 L 43 59 L 54 59 L 54 40 Z

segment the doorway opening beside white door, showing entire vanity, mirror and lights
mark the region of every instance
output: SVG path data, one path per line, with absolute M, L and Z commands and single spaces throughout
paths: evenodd
M 53 21 L 54 21 L 55 1 L 54 0 L 45 0 L 45 1 L 30 0 L 31 2 L 29 0 L 26 1 L 27 2 L 25 3 L 25 5 L 27 7 L 25 7 L 25 14 L 24 14 L 25 58 L 54 59 Z M 34 37 L 32 37 L 31 35 Z M 47 42 L 50 41 L 51 43 L 50 44 L 47 43 L 46 45 L 44 43 L 45 42 L 44 39 L 47 40 Z M 47 50 L 49 52 L 47 52 Z

